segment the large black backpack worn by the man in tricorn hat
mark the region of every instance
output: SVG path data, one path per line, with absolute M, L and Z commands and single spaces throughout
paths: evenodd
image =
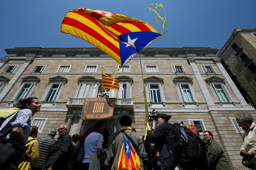
M 173 149 L 175 162 L 184 169 L 207 169 L 208 159 L 204 141 L 188 129 L 183 122 L 172 125 L 174 141 L 168 134 L 166 141 Z M 172 142 L 173 141 L 173 142 Z

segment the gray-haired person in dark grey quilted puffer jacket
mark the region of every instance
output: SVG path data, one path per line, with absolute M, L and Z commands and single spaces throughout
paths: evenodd
M 48 160 L 48 154 L 52 149 L 52 146 L 55 144 L 56 140 L 53 138 L 57 133 L 57 129 L 52 128 L 48 132 L 48 136 L 40 137 L 37 139 L 38 141 L 38 151 L 39 151 L 39 159 L 36 163 L 35 170 L 41 170 Z

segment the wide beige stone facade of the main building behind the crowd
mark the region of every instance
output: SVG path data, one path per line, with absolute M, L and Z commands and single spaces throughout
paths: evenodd
M 107 140 L 119 130 L 119 119 L 130 115 L 132 127 L 145 134 L 143 82 L 146 85 L 148 111 L 171 114 L 169 122 L 194 124 L 202 134 L 213 132 L 229 163 L 241 166 L 239 149 L 243 129 L 235 113 L 255 109 L 247 104 L 216 56 L 216 48 L 146 48 L 134 57 L 115 78 L 120 90 L 109 90 L 115 97 L 113 116 L 104 119 Z M 12 107 L 17 98 L 37 97 L 41 111 L 32 124 L 39 127 L 38 137 L 52 127 L 67 124 L 68 133 L 84 134 L 97 119 L 81 120 L 85 97 L 97 97 L 101 89 L 100 70 L 119 67 L 98 48 L 12 48 L 0 63 L 0 108 Z M 113 70 L 105 70 L 111 74 Z M 154 126 L 154 121 L 151 122 Z

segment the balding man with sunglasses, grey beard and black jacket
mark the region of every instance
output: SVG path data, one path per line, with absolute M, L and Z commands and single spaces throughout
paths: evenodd
M 49 160 L 42 170 L 68 170 L 68 161 L 71 158 L 73 144 L 67 130 L 65 125 L 59 126 L 60 137 L 49 152 Z

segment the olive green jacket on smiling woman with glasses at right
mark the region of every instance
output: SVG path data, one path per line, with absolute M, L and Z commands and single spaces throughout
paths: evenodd
M 206 146 L 211 170 L 231 170 L 224 150 L 214 139 Z

